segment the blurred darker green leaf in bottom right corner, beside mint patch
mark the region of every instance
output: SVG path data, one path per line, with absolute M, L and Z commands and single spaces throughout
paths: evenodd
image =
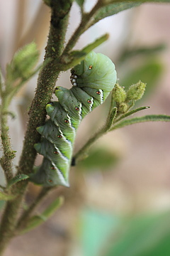
M 122 223 L 110 245 L 106 244 L 105 256 L 169 256 L 170 213 L 145 215 Z

